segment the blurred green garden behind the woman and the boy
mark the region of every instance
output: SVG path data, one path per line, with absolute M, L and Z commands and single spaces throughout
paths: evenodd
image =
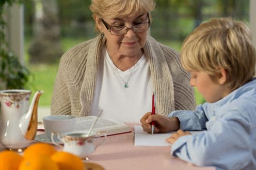
M 24 1 L 24 65 L 30 71 L 25 87 L 44 90 L 40 106 L 50 107 L 61 55 L 93 38 L 94 21 L 82 0 Z M 150 34 L 180 52 L 185 37 L 201 22 L 230 16 L 249 21 L 249 0 L 156 0 Z M 197 105 L 204 99 L 195 89 Z

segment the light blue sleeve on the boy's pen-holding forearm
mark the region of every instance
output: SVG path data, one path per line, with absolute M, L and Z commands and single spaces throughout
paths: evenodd
M 180 120 L 180 128 L 182 130 L 205 130 L 205 123 L 208 121 L 204 113 L 206 107 L 207 103 L 199 105 L 195 111 L 172 111 L 168 117 L 177 117 Z

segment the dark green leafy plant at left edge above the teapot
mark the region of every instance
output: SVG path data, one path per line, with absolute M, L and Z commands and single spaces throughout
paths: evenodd
M 28 81 L 29 70 L 20 64 L 17 56 L 8 50 L 5 40 L 4 6 L 13 3 L 21 3 L 21 0 L 0 1 L 0 90 L 1 89 L 23 89 Z

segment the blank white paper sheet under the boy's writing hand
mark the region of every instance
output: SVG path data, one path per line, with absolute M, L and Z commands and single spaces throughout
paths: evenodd
M 171 146 L 169 142 L 166 142 L 165 139 L 170 137 L 172 133 L 166 134 L 148 134 L 143 131 L 141 126 L 134 126 L 134 145 L 135 146 Z M 202 133 L 202 131 L 190 131 L 191 134 L 196 135 Z

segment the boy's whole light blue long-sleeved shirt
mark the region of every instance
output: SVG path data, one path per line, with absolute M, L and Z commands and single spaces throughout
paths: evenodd
M 218 170 L 256 169 L 256 79 L 215 103 L 173 111 L 168 117 L 178 117 L 183 130 L 207 130 L 180 137 L 171 155 Z

